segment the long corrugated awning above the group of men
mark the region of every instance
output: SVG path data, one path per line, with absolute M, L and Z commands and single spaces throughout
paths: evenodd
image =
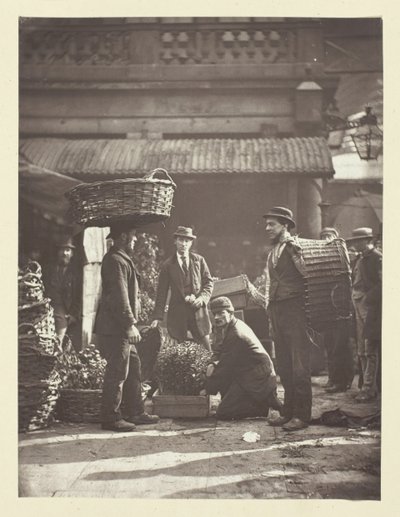
M 331 177 L 324 138 L 68 140 L 31 138 L 20 151 L 32 163 L 73 176 L 135 176 L 156 167 L 173 174 L 262 173 Z

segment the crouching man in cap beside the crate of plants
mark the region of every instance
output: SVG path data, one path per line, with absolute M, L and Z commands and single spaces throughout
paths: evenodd
M 207 393 L 222 397 L 216 416 L 235 420 L 266 417 L 270 407 L 280 410 L 274 366 L 257 336 L 235 318 L 229 298 L 215 298 L 210 308 L 224 336 L 206 371 Z

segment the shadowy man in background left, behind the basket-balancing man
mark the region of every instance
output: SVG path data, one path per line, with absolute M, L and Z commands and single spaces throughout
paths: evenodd
M 71 237 L 57 244 L 57 260 L 44 271 L 46 296 L 54 309 L 56 334 L 62 346 L 65 334 L 80 349 L 81 276 L 73 263 L 75 246 Z

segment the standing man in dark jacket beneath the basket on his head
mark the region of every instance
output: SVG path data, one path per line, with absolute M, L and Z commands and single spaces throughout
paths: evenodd
M 140 277 L 129 254 L 136 230 L 133 225 L 115 224 L 107 238 L 112 238 L 114 245 L 101 265 L 102 295 L 95 323 L 98 347 L 107 361 L 101 422 L 103 429 L 124 432 L 159 418 L 144 411 L 141 364 L 135 347 L 141 339 L 137 328 Z M 127 420 L 121 415 L 122 401 Z

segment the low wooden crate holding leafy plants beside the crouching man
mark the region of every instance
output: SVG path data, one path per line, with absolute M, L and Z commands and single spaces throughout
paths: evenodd
M 153 395 L 153 413 L 161 418 L 202 418 L 210 413 L 210 397 Z

